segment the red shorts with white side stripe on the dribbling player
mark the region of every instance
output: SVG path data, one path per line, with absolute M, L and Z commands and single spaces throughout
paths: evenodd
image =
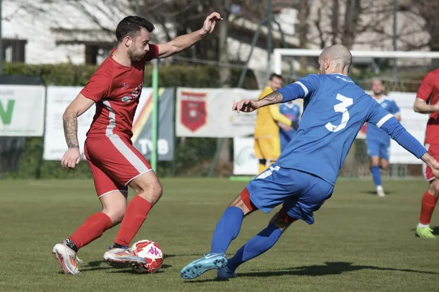
M 126 195 L 128 183 L 152 169 L 131 140 L 119 135 L 85 139 L 84 154 L 98 197 L 115 191 Z

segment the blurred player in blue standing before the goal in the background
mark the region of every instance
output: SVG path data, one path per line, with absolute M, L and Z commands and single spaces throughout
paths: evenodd
M 398 105 L 394 100 L 389 99 L 383 94 L 384 87 L 381 80 L 375 79 L 372 81 L 372 97 L 381 105 L 384 110 L 387 110 L 397 118 L 401 120 Z M 381 185 L 381 173 L 379 168 L 386 170 L 389 168 L 389 154 L 390 154 L 390 137 L 383 130 L 368 123 L 366 126 L 366 146 L 367 155 L 370 157 L 372 172 L 372 178 L 377 187 L 377 195 L 384 197 L 384 189 Z

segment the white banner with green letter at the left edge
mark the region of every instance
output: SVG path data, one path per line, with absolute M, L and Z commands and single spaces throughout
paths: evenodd
M 42 136 L 44 96 L 44 86 L 0 85 L 0 137 Z

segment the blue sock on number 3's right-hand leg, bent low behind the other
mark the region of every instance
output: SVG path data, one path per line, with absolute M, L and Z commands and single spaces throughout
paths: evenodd
M 235 271 L 243 262 L 257 257 L 269 250 L 275 245 L 281 235 L 282 230 L 280 228 L 273 224 L 268 224 L 265 229 L 244 244 L 238 252 L 236 252 L 236 255 L 227 261 L 227 267 L 231 271 Z

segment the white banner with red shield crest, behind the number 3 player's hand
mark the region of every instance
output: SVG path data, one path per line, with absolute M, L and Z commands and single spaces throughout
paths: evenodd
M 178 137 L 231 138 L 253 135 L 256 112 L 236 113 L 233 103 L 258 99 L 259 90 L 240 88 L 178 88 Z

